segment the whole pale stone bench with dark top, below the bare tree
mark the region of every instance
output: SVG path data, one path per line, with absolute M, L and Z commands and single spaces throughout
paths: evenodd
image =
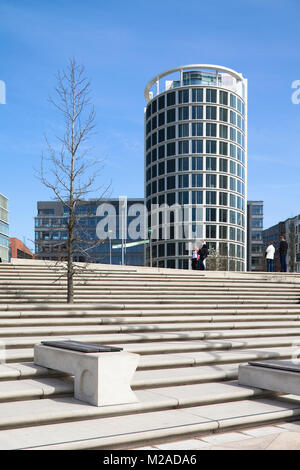
M 138 354 L 77 341 L 44 341 L 34 347 L 34 362 L 74 375 L 75 398 L 91 405 L 138 401 L 130 387 Z

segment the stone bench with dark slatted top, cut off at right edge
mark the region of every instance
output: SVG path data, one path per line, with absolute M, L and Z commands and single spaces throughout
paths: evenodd
M 238 383 L 282 394 L 300 395 L 300 362 L 251 361 L 239 366 Z

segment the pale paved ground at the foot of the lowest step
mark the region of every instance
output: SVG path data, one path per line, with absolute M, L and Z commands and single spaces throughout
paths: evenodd
M 300 450 L 300 421 L 210 434 L 135 450 Z

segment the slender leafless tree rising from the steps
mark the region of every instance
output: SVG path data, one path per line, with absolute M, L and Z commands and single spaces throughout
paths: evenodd
M 94 184 L 102 169 L 102 162 L 90 160 L 88 155 L 91 148 L 87 147 L 95 129 L 95 110 L 90 100 L 90 81 L 85 77 L 85 69 L 78 65 L 75 59 L 70 59 L 65 71 L 56 75 L 54 98 L 50 103 L 59 111 L 63 118 L 62 135 L 57 136 L 57 145 L 47 143 L 47 154 L 42 154 L 39 178 L 42 183 L 54 193 L 54 199 L 60 201 L 68 210 L 66 230 L 67 242 L 62 242 L 62 248 L 67 253 L 67 302 L 74 300 L 73 262 L 74 247 L 81 247 L 85 252 L 100 241 L 88 241 L 86 237 L 79 238 L 80 227 L 77 224 L 76 206 L 90 193 L 102 195 L 107 191 L 95 188 Z M 89 248 L 83 244 L 89 244 Z M 63 246 L 66 245 L 67 246 Z M 59 246 L 59 244 L 56 244 Z

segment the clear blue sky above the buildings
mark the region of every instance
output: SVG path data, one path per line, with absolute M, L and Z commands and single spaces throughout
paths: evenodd
M 32 248 L 36 202 L 52 194 L 34 176 L 44 135 L 59 133 L 48 102 L 69 58 L 92 82 L 111 196 L 144 191 L 144 88 L 164 70 L 224 65 L 248 79 L 248 198 L 264 201 L 264 227 L 300 213 L 299 0 L 0 0 L 0 192 L 10 234 Z

